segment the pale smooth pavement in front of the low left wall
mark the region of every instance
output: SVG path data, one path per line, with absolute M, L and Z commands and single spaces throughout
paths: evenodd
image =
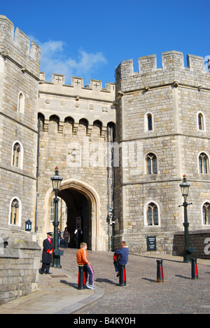
M 38 291 L 0 306 L 0 314 L 69 314 L 90 304 L 104 292 L 77 289 L 77 277 L 63 269 L 50 268 L 40 275 Z

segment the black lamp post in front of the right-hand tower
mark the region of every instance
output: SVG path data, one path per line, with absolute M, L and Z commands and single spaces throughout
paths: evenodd
M 184 198 L 183 205 L 180 205 L 179 207 L 184 207 L 184 223 L 183 226 L 185 228 L 185 248 L 183 252 L 183 261 L 185 263 L 189 263 L 191 259 L 191 252 L 189 247 L 189 231 L 188 228 L 190 224 L 188 223 L 188 205 L 192 205 L 193 203 L 187 202 L 187 197 L 189 194 L 190 184 L 187 182 L 186 175 L 183 175 L 183 182 L 179 185 L 181 188 L 181 194 Z

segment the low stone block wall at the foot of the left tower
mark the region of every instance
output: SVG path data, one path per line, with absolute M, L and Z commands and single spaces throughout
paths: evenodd
M 15 240 L 0 248 L 0 304 L 36 292 L 41 248 L 36 242 Z

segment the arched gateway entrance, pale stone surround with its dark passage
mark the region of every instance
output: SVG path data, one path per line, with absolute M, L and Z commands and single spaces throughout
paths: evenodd
M 66 221 L 71 234 L 70 246 L 76 247 L 74 231 L 79 226 L 83 231 L 80 241 L 87 242 L 89 250 L 103 250 L 97 191 L 85 182 L 70 179 L 62 182 L 58 196 L 66 203 Z M 46 195 L 46 198 L 50 200 L 52 193 Z

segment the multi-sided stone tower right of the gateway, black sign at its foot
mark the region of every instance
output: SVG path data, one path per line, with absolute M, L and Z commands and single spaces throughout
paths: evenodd
M 139 58 L 116 69 L 116 142 L 120 165 L 115 169 L 116 240 L 132 252 L 146 252 L 146 237 L 155 236 L 158 251 L 173 250 L 175 231 L 183 231 L 179 184 L 191 183 L 190 230 L 209 225 L 210 74 L 204 59 L 183 53 Z M 118 165 L 116 165 L 118 166 Z M 206 210 L 207 209 L 207 210 Z

